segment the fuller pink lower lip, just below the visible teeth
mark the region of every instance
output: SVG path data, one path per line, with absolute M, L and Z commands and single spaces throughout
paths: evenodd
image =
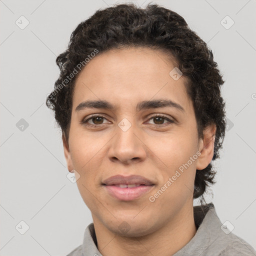
M 137 199 L 138 197 L 142 196 L 143 194 L 147 193 L 149 190 L 152 189 L 153 185 L 140 185 L 136 187 L 126 187 L 121 188 L 115 185 L 104 185 L 106 190 L 110 195 L 115 197 L 116 199 L 123 200 L 123 201 L 130 201 Z

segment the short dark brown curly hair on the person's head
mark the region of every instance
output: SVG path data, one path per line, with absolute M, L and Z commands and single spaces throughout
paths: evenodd
M 94 56 L 93 52 L 100 54 L 129 46 L 160 49 L 174 57 L 177 67 L 186 77 L 185 88 L 193 102 L 198 137 L 203 138 L 202 131 L 207 125 L 216 125 L 212 160 L 219 158 L 226 125 L 225 103 L 220 94 L 220 85 L 224 81 L 217 63 L 213 61 L 212 51 L 188 27 L 183 17 L 151 3 L 145 8 L 127 3 L 97 10 L 78 24 L 67 49 L 57 56 L 60 74 L 54 90 L 47 96 L 46 105 L 54 111 L 55 120 L 67 141 L 73 88 L 78 76 L 70 74 L 74 74 L 74 70 L 75 74 L 79 73 L 82 70 L 77 68 L 81 66 L 79 63 Z M 206 188 L 215 183 L 215 173 L 211 163 L 202 170 L 196 170 L 193 198 L 203 195 Z

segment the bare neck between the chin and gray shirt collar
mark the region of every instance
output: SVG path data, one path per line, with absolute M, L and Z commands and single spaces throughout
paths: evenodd
M 94 215 L 92 218 L 97 247 L 103 256 L 169 256 L 184 247 L 196 232 L 192 205 L 189 210 L 179 211 L 160 228 L 140 237 L 127 237 L 113 233 Z

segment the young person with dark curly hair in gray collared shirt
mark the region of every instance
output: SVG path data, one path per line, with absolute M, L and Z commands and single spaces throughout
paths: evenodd
M 56 62 L 47 105 L 93 219 L 68 255 L 256 255 L 212 203 L 193 207 L 214 182 L 223 80 L 180 15 L 156 4 L 98 10 Z

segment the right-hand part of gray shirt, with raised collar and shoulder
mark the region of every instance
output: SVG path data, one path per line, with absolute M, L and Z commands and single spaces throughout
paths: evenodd
M 205 207 L 206 209 L 200 207 L 194 210 L 195 223 L 199 227 L 185 251 L 189 251 L 190 255 L 199 251 L 201 256 L 256 256 L 256 251 L 250 244 L 232 233 L 220 221 L 212 203 Z

